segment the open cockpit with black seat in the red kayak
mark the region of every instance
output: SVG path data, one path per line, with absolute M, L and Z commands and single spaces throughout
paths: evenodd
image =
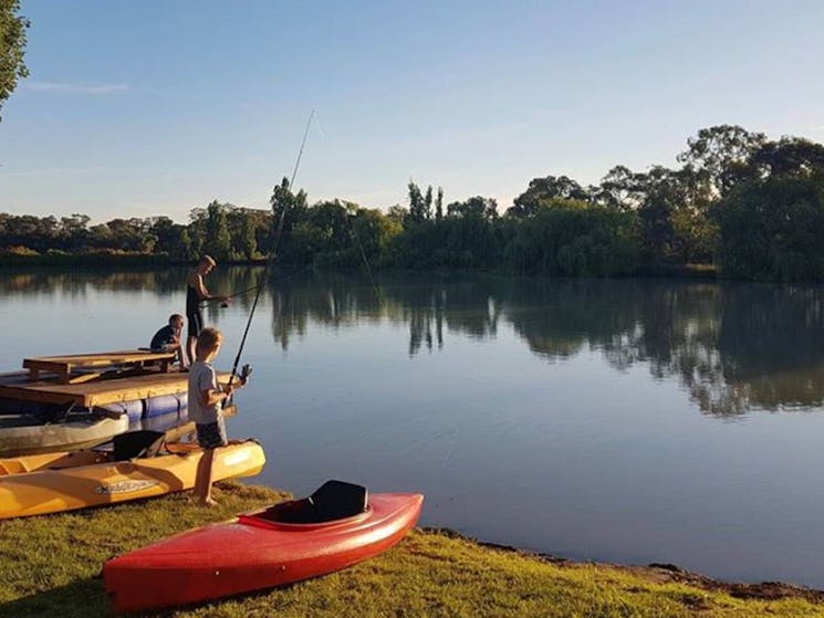
M 281 524 L 336 524 L 369 512 L 369 494 L 363 485 L 326 481 L 309 497 L 280 502 L 267 509 L 241 514 L 240 523 L 259 527 Z

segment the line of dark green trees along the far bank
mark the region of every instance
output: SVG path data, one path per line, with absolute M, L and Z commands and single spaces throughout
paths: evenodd
M 824 279 L 824 146 L 769 140 L 733 125 L 701 129 L 687 145 L 676 169 L 616 166 L 595 186 L 535 178 L 503 213 L 481 196 L 445 203 L 441 188 L 411 180 L 403 207 L 310 205 L 284 178 L 271 211 L 212 201 L 194 209 L 188 224 L 0 213 L 0 248 L 7 256 L 121 252 L 187 261 L 209 252 L 246 261 L 277 244 L 278 260 L 292 265 L 616 275 L 710 264 L 742 279 Z

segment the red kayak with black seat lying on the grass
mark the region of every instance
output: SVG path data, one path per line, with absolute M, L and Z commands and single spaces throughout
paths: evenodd
M 310 497 L 191 530 L 108 561 L 118 611 L 205 601 L 307 579 L 376 556 L 411 530 L 419 493 L 327 481 Z

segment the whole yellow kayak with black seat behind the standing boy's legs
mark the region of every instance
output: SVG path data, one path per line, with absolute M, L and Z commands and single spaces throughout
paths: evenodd
M 145 448 L 132 443 L 118 449 L 116 442 L 112 451 L 0 459 L 0 520 L 116 504 L 194 488 L 202 450 L 190 443 L 163 444 L 164 434 L 156 436 L 159 439 Z M 126 441 L 128 438 L 122 440 Z M 213 480 L 253 476 L 264 463 L 263 449 L 254 441 L 222 447 L 215 451 Z

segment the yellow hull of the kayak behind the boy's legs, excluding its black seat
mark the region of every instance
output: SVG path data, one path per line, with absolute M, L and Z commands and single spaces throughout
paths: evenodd
M 64 453 L 65 454 L 65 453 Z M 195 486 L 202 450 L 127 461 L 13 473 L 0 476 L 0 520 L 44 515 L 154 497 Z M 65 460 L 62 460 L 64 462 Z M 248 441 L 215 450 L 213 480 L 252 476 L 265 463 L 263 449 Z

